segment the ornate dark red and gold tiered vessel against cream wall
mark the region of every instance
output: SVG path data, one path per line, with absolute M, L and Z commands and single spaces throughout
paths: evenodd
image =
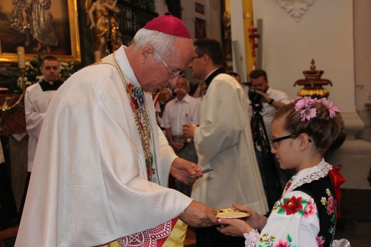
M 324 74 L 323 70 L 316 70 L 316 66 L 314 65 L 315 61 L 312 59 L 310 70 L 303 71 L 305 79 L 297 80 L 294 83 L 295 85 L 303 85 L 304 88 L 301 88 L 298 91 L 298 96 L 311 96 L 312 98 L 327 98 L 330 94 L 328 90 L 322 86 L 330 84 L 332 86 L 332 82 L 327 79 L 321 79 L 322 74 Z

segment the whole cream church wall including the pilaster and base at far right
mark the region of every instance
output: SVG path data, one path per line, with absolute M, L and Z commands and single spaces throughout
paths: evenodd
M 253 0 L 254 24 L 257 26 L 258 19 L 263 23 L 258 30 L 262 45 L 257 52 L 261 52 L 262 69 L 267 71 L 270 85 L 296 98 L 302 86 L 293 84 L 304 79 L 302 71 L 309 70 L 312 58 L 316 69 L 324 71 L 322 78 L 333 83 L 324 87 L 342 111 L 347 136 L 343 145 L 326 158 L 330 164 L 343 165 L 342 174 L 347 180 L 344 189 L 371 189 L 367 180 L 371 142 L 356 138 L 364 128 L 356 110 L 365 109 L 371 91 L 367 82 L 371 22 L 366 21 L 370 19 L 371 3 L 367 1 L 315 0 L 296 22 L 277 1 Z M 240 54 L 244 55 L 241 6 L 241 0 L 231 0 L 232 41 L 238 41 Z M 246 70 L 245 64 L 242 67 Z

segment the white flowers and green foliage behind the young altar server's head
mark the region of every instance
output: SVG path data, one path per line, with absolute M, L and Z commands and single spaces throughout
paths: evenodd
M 33 61 L 27 61 L 25 63 L 25 74 L 24 80 L 26 87 L 42 82 L 44 79 L 44 75 L 40 71 L 41 62 L 43 61 L 43 57 L 39 54 L 38 56 L 33 57 Z M 75 65 L 72 61 L 70 64 L 66 62 L 59 61 L 60 72 L 59 72 L 59 80 L 66 81 L 72 74 L 75 72 Z M 22 78 L 19 77 L 17 80 L 17 87 L 18 90 L 22 91 Z

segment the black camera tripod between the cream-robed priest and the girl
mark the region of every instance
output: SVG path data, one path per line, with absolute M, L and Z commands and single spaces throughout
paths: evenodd
M 260 114 L 262 108 L 263 107 L 261 104 L 252 104 L 253 117 L 251 121 L 251 130 L 253 133 L 255 152 L 257 154 L 257 160 L 263 180 L 268 206 L 269 208 L 272 208 L 280 197 L 282 188 L 279 182 L 274 157 L 271 153 L 271 146 L 269 144 L 267 130 L 263 122 L 263 116 Z M 260 147 L 260 151 L 257 146 Z

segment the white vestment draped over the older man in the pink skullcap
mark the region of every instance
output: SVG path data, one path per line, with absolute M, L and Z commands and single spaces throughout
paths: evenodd
M 114 53 L 137 87 L 124 47 Z M 152 96 L 144 93 L 151 106 Z M 116 67 L 75 73 L 46 112 L 15 246 L 99 246 L 164 223 L 191 203 L 165 188 L 176 158 L 148 107 L 159 184 L 147 180 L 143 148 Z

